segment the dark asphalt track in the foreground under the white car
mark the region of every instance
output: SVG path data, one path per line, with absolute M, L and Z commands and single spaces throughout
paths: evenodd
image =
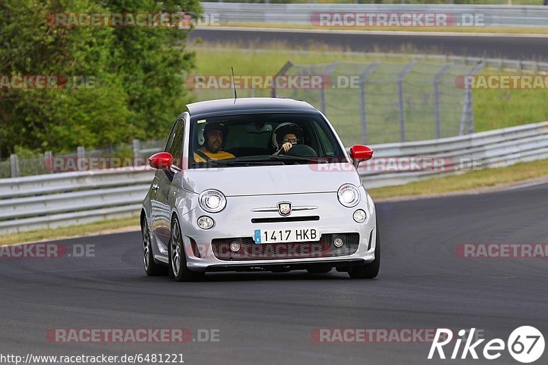
M 462 242 L 546 243 L 548 184 L 377 204 L 377 279 L 344 273 L 214 273 L 200 283 L 146 277 L 140 233 L 59 241 L 95 257 L 0 259 L 0 354 L 182 353 L 186 364 L 462 364 L 427 361 L 427 343 L 317 343 L 318 328 L 469 329 L 507 340 L 548 335 L 546 258 L 462 258 Z M 219 329 L 220 342 L 62 344 L 54 328 Z M 484 342 L 485 343 L 485 342 Z M 480 346 L 480 349 L 483 345 Z M 447 350 L 449 353 L 452 348 Z M 537 363 L 546 364 L 548 350 Z M 486 360 L 469 360 L 483 364 Z M 490 364 L 516 364 L 510 354 Z

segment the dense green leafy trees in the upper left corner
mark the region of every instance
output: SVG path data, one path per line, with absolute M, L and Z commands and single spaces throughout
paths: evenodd
M 73 150 L 160 138 L 190 99 L 188 31 L 166 27 L 58 27 L 54 13 L 187 12 L 186 1 L 0 1 L 0 77 L 81 75 L 83 88 L 14 90 L 0 84 L 0 156 L 16 146 Z M 90 84 L 92 81 L 93 84 Z M 69 84 L 74 84 L 69 82 Z M 91 86 L 91 87 L 90 87 Z

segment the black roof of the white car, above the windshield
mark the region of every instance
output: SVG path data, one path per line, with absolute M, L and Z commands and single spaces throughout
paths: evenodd
M 239 98 L 199 101 L 186 105 L 190 116 L 236 112 L 318 112 L 306 101 L 279 98 Z

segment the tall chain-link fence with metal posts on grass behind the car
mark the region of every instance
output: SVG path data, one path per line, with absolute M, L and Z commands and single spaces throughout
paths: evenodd
M 308 101 L 329 118 L 345 145 L 427 140 L 473 132 L 471 90 L 458 87 L 457 80 L 477 73 L 483 65 L 482 61 L 474 65 L 422 60 L 308 65 L 288 61 L 271 83 L 268 75 L 247 75 L 247 83 L 236 75 L 236 89 L 238 97 Z M 253 77 L 260 77 L 255 84 L 262 87 L 252 87 Z M 286 87 L 276 88 L 282 77 Z M 314 77 L 320 84 L 309 82 Z M 219 77 L 204 77 L 200 85 L 195 89 L 198 100 L 234 97 L 232 83 L 223 86 Z

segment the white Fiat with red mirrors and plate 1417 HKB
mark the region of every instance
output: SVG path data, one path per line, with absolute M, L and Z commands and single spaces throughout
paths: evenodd
M 332 268 L 379 272 L 375 204 L 327 118 L 304 101 L 249 98 L 187 105 L 142 203 L 147 275 Z M 167 268 L 166 268 L 167 266 Z

